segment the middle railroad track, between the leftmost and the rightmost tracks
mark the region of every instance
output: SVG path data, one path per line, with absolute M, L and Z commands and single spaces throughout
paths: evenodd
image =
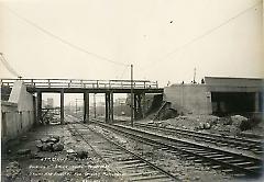
M 188 160 L 210 166 L 212 169 L 231 173 L 237 178 L 257 178 L 262 174 L 262 159 L 204 146 L 197 143 L 158 135 L 124 125 L 95 122 L 101 127 L 129 138 L 161 146 L 162 150 L 180 155 Z

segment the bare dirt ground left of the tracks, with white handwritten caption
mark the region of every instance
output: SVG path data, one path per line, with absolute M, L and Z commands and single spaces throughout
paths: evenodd
M 62 151 L 38 151 L 36 140 L 56 135 L 64 144 Z M 31 152 L 23 152 L 30 150 Z M 70 156 L 70 151 L 86 151 L 87 158 Z M 22 151 L 22 152 L 21 152 Z M 67 125 L 37 127 L 10 143 L 2 152 L 1 181 L 119 181 L 111 169 L 82 140 L 73 137 Z

